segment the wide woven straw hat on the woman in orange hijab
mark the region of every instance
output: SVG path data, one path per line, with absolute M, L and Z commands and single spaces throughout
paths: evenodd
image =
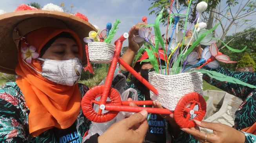
M 24 20 L 30 18 L 49 18 L 49 20 L 55 19 L 65 24 L 68 29 L 73 30 L 78 34 L 82 42 L 83 57 L 82 63 L 86 63 L 85 43 L 83 39 L 88 37 L 88 33 L 92 30 L 96 31 L 94 26 L 77 16 L 58 12 L 58 11 L 16 11 L 11 13 L 5 13 L 0 15 L 0 72 L 8 74 L 16 74 L 15 68 L 18 64 L 18 49 L 16 43 L 13 40 L 13 30 L 16 25 Z M 31 27 L 37 24 L 37 21 L 31 23 Z M 41 24 L 42 25 L 42 24 Z M 48 25 L 49 26 L 49 25 Z M 53 25 L 56 26 L 56 25 Z M 26 27 L 29 30 L 29 26 Z M 61 27 L 62 28 L 62 27 Z M 35 30 L 35 29 L 34 29 Z

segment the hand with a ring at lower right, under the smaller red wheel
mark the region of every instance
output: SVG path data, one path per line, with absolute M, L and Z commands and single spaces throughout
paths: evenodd
M 182 128 L 188 134 L 193 135 L 196 139 L 203 143 L 244 143 L 245 142 L 245 134 L 240 132 L 228 125 L 224 125 L 221 123 L 211 123 L 211 122 L 200 122 L 198 120 L 194 120 L 196 125 L 199 127 L 212 129 L 213 134 L 206 134 L 204 132 L 200 132 L 198 130 Z

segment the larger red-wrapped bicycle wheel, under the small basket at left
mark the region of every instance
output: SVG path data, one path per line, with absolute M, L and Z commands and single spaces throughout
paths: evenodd
M 110 121 L 119 113 L 117 111 L 107 111 L 107 113 L 102 113 L 101 115 L 99 115 L 98 111 L 94 111 L 93 100 L 95 100 L 97 97 L 100 97 L 102 95 L 104 88 L 105 88 L 104 85 L 94 86 L 93 88 L 89 89 L 85 93 L 81 101 L 81 107 L 84 115 L 86 116 L 87 119 L 93 122 L 102 123 L 102 122 Z M 111 104 L 113 105 L 122 104 L 120 95 L 116 89 L 111 88 L 109 91 L 108 97 L 111 99 Z

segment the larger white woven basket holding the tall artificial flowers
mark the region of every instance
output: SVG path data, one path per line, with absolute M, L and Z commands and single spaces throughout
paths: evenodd
M 158 100 L 161 105 L 171 111 L 174 111 L 178 101 L 187 93 L 203 93 L 203 74 L 196 71 L 189 73 L 180 73 L 177 75 L 161 75 L 149 72 L 149 83 L 157 90 L 158 96 L 150 91 L 150 98 Z

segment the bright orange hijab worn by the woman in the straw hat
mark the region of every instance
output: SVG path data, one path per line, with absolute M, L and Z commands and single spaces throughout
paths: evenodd
M 36 52 L 40 55 L 42 47 L 61 32 L 68 32 L 76 39 L 76 43 L 79 45 L 79 54 L 82 57 L 81 41 L 72 30 L 44 27 L 29 32 L 25 37 L 29 45 L 35 46 Z M 25 46 L 23 41 L 20 43 L 21 47 Z M 37 71 L 42 71 L 41 63 L 36 59 L 32 59 L 29 65 Z M 29 133 L 33 137 L 53 127 L 66 129 L 75 122 L 81 106 L 78 84 L 65 86 L 45 79 L 22 61 L 20 47 L 16 73 L 20 75 L 16 82 L 30 110 Z

